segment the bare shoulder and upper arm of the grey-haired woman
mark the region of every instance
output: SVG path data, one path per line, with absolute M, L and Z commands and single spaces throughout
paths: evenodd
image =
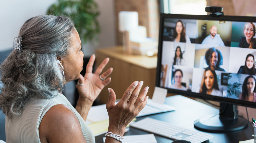
M 64 104 L 54 105 L 47 111 L 39 125 L 39 136 L 53 142 L 67 141 L 71 137 L 78 142 L 85 141 L 79 120 Z

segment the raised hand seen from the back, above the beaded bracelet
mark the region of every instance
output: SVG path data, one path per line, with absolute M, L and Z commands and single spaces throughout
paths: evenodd
M 116 94 L 109 90 L 109 99 L 106 108 L 109 116 L 108 131 L 117 135 L 123 135 L 126 126 L 139 114 L 147 103 L 148 87 L 145 87 L 139 95 L 143 81 L 133 82 L 124 92 L 121 100 L 115 105 Z M 138 97 L 139 96 L 139 97 Z M 107 139 L 107 138 L 106 138 Z

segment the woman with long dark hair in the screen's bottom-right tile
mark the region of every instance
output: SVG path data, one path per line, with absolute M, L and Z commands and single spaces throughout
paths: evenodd
M 239 95 L 240 100 L 256 102 L 255 82 L 256 82 L 256 79 L 252 75 L 249 75 L 245 78 L 245 81 L 242 87 L 242 93 Z

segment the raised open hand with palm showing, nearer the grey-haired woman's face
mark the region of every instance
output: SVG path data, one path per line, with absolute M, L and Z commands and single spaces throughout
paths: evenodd
M 98 66 L 95 73 L 93 73 L 93 64 L 95 61 L 95 55 L 90 57 L 90 60 L 86 66 L 86 73 L 84 77 L 80 74 L 78 79 L 78 83 L 76 88 L 79 93 L 79 98 L 94 102 L 94 100 L 98 97 L 100 91 L 110 83 L 111 78 L 107 78 L 113 71 L 113 68 L 108 69 L 107 71 L 103 72 L 101 75 L 100 73 L 107 65 L 109 58 L 105 58 L 102 63 Z M 100 78 L 101 76 L 101 78 Z

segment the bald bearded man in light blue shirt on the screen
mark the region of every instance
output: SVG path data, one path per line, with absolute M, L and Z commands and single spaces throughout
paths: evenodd
M 210 28 L 210 35 L 205 37 L 202 44 L 209 44 L 214 46 L 225 46 L 221 37 L 217 34 L 217 27 L 212 25 Z

